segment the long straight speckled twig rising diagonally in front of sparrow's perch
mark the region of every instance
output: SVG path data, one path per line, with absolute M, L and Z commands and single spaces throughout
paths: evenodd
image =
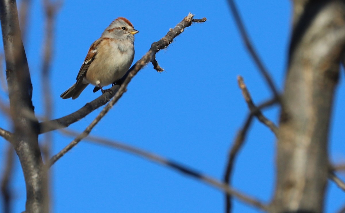
M 70 149 L 73 148 L 79 141 L 85 138 L 92 130 L 92 128 L 105 116 L 109 110 L 114 106 L 114 104 L 122 97 L 122 95 L 127 91 L 127 85 L 131 81 L 131 79 L 141 70 L 146 64 L 151 62 L 155 59 L 156 53 L 168 47 L 168 45 L 172 42 L 172 40 L 181 34 L 186 27 L 189 27 L 192 24 L 194 15 L 189 13 L 180 23 L 176 25 L 174 29 L 170 29 L 170 31 L 160 39 L 158 42 L 154 42 L 151 45 L 150 50 L 139 60 L 137 61 L 133 67 L 126 73 L 124 76 L 125 80 L 121 84 L 120 88 L 114 95 L 114 98 L 103 108 L 103 110 L 97 115 L 95 120 L 93 120 L 90 125 L 79 135 L 77 136 L 70 144 L 68 144 L 65 148 L 63 148 L 58 154 L 54 155 L 49 165 L 54 164 L 58 159 L 60 159 L 64 154 L 66 154 Z

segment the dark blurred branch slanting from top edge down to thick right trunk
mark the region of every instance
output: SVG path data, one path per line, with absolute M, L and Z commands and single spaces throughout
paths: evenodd
M 250 53 L 250 55 L 252 56 L 256 66 L 258 67 L 260 73 L 264 76 L 264 79 L 266 80 L 267 84 L 269 85 L 269 88 L 271 89 L 273 95 L 275 96 L 275 98 L 277 100 L 279 100 L 279 93 L 278 90 L 272 80 L 272 78 L 269 75 L 269 72 L 267 71 L 267 69 L 265 68 L 263 62 L 260 60 L 259 55 L 257 54 L 257 52 L 254 49 L 254 46 L 252 44 L 252 42 L 249 39 L 248 33 L 244 27 L 244 24 L 242 22 L 241 17 L 239 16 L 238 10 L 236 8 L 235 2 L 234 0 L 228 0 L 229 3 L 229 7 L 231 10 L 231 13 L 234 16 L 237 28 L 240 31 L 241 37 Z

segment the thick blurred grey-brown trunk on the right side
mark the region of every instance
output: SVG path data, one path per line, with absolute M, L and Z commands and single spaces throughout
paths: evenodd
M 323 212 L 327 140 L 345 42 L 344 1 L 294 1 L 272 212 Z

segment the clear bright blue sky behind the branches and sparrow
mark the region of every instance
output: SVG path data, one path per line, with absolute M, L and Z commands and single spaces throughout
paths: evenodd
M 261 59 L 282 90 L 290 34 L 289 1 L 237 1 L 240 14 Z M 43 11 L 33 1 L 25 45 L 29 61 L 33 104 L 41 115 Z M 222 179 L 228 149 L 243 125 L 247 105 L 237 86 L 242 75 L 256 103 L 270 98 L 270 91 L 249 57 L 226 1 L 64 1 L 57 16 L 51 69 L 54 118 L 78 110 L 100 95 L 89 86 L 78 99 L 59 95 L 75 83 L 90 44 L 117 17 L 128 18 L 136 34 L 135 59 L 152 42 L 188 12 L 207 22 L 187 28 L 170 46 L 157 54 L 165 72 L 151 64 L 130 82 L 128 91 L 94 128 L 92 135 L 121 141 L 180 162 L 204 174 Z M 2 45 L 2 44 L 1 44 Z M 333 162 L 344 162 L 344 76 L 337 89 L 329 153 Z M 1 91 L 2 99 L 7 100 Z M 101 109 L 72 124 L 82 131 Z M 277 123 L 279 110 L 264 114 Z M 0 114 L 1 127 L 10 129 Z M 40 140 L 42 137 L 40 136 Z M 57 153 L 72 138 L 53 134 Z M 0 139 L 0 149 L 7 142 Z M 236 160 L 233 187 L 268 202 L 275 183 L 275 138 L 255 121 Z M 3 152 L 3 151 L 2 151 Z M 3 154 L 0 154 L 3 162 Z M 12 183 L 14 212 L 24 210 L 25 186 L 19 162 Z M 3 164 L 0 163 L 0 171 Z M 343 176 L 344 177 L 344 176 Z M 345 202 L 344 193 L 329 183 L 325 212 L 335 212 Z M 80 142 L 52 167 L 53 212 L 223 212 L 224 195 L 166 167 L 104 146 Z M 0 205 L 2 205 L 0 203 Z M 234 212 L 258 212 L 235 201 Z

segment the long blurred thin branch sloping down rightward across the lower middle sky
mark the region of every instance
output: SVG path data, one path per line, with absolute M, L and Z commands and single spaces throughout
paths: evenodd
M 78 135 L 79 136 L 79 133 L 74 132 L 74 131 L 70 131 L 70 130 L 66 130 L 66 129 L 61 130 L 61 132 L 64 134 L 67 134 L 67 135 L 72 135 L 72 136 Z M 142 149 L 139 149 L 139 148 L 136 148 L 134 146 L 130 146 L 130 145 L 127 145 L 124 143 L 120 143 L 120 142 L 116 142 L 116 141 L 112 141 L 112 140 L 107 140 L 107 139 L 103 139 L 103 138 L 99 138 L 99 137 L 95 137 L 95 136 L 90 136 L 90 135 L 86 136 L 83 140 L 91 142 L 91 143 L 106 145 L 106 146 L 109 146 L 111 148 L 115 148 L 115 149 L 122 150 L 125 152 L 129 152 L 131 154 L 134 154 L 136 156 L 140 156 L 140 157 L 147 159 L 149 161 L 167 166 L 167 167 L 174 169 L 178 172 L 181 172 L 185 175 L 192 176 L 192 177 L 196 178 L 197 180 L 203 181 L 204 183 L 206 183 L 208 185 L 216 187 L 216 188 L 222 190 L 223 192 L 225 192 L 226 194 L 233 195 L 238 200 L 240 200 L 244 203 L 247 203 L 247 204 L 250 204 L 254 207 L 257 207 L 260 210 L 268 211 L 268 206 L 266 204 L 263 204 L 262 202 L 254 199 L 252 197 L 249 197 L 248 195 L 244 195 L 243 193 L 240 193 L 240 192 L 234 190 L 233 188 L 229 187 L 226 183 L 222 183 L 222 182 L 214 179 L 213 177 L 201 174 L 194 169 L 190 169 L 190 168 L 188 168 L 182 164 L 168 160 L 168 159 L 163 158 L 162 156 L 159 156 L 157 154 L 153 154 L 153 153 L 144 151 Z

